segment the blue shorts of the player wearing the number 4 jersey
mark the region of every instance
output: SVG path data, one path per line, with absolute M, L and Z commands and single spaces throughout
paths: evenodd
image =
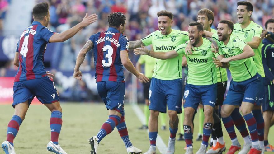
M 34 96 L 43 104 L 50 104 L 59 101 L 58 92 L 54 82 L 49 77 L 41 77 L 26 81 L 18 81 L 13 84 L 12 106 L 28 100 L 29 105 Z

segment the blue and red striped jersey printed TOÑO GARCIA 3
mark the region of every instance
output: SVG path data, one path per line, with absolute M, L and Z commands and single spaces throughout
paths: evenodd
M 128 39 L 116 28 L 98 32 L 90 36 L 93 42 L 93 56 L 96 82 L 124 82 L 123 65 L 120 51 L 128 51 Z

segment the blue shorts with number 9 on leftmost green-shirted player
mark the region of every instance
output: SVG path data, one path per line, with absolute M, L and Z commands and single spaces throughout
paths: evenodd
M 168 110 L 182 113 L 182 79 L 151 79 L 149 87 L 149 110 L 162 113 Z

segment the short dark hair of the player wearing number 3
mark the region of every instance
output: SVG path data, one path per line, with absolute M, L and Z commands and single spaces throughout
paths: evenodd
M 110 27 L 119 27 L 121 24 L 124 26 L 125 25 L 125 14 L 122 12 L 114 12 L 108 15 L 107 21 Z

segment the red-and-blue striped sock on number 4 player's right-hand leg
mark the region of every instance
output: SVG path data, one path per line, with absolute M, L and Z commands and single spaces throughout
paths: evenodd
M 60 111 L 51 112 L 50 116 L 50 130 L 51 130 L 51 138 L 50 141 L 53 144 L 59 144 L 58 138 L 62 127 L 62 113 Z

